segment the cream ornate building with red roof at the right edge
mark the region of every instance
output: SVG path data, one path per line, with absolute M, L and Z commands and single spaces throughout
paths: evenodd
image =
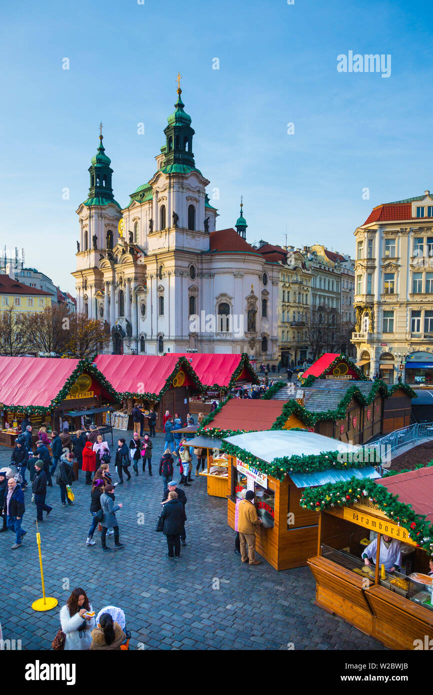
M 356 327 L 365 373 L 433 381 L 433 196 L 380 204 L 354 231 Z

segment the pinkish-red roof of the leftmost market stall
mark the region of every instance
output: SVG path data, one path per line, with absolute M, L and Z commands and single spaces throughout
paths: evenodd
M 61 357 L 0 357 L 0 402 L 48 408 L 78 364 Z

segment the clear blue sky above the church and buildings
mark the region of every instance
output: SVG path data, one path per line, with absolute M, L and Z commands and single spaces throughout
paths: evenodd
M 234 225 L 243 194 L 250 243 L 287 233 L 353 254 L 371 208 L 433 190 L 432 26 L 431 4 L 416 0 L 3 5 L 1 249 L 24 247 L 26 265 L 74 293 L 75 211 L 99 122 L 126 206 L 156 169 L 180 70 L 195 162 L 220 190 L 218 227 Z M 348 51 L 391 54 L 391 76 L 337 72 Z

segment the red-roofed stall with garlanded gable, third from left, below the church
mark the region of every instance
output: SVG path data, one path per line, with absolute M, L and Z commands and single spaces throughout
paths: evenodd
M 254 366 L 248 355 L 205 352 L 177 352 L 192 366 L 202 390 L 190 395 L 191 414 L 211 412 L 213 402 L 219 403 L 231 389 L 245 384 L 259 384 Z

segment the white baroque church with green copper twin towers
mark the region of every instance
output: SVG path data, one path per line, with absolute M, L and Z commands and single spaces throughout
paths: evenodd
M 164 130 L 156 172 L 122 208 L 99 136 L 88 198 L 76 211 L 77 311 L 108 323 L 115 354 L 247 352 L 278 356 L 279 263 L 236 229 L 217 230 L 209 180 L 195 166 L 181 88 Z

